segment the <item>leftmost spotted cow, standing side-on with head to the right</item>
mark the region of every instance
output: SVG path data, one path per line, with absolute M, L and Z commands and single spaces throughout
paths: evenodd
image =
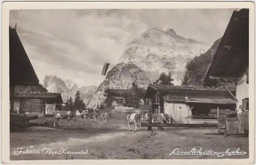
M 76 110 L 76 111 L 54 111 L 53 112 L 53 127 L 55 127 L 55 122 L 57 120 L 59 126 L 60 124 L 60 119 L 67 119 L 68 120 L 68 126 L 70 126 L 70 120 L 73 120 L 75 117 L 80 116 L 81 113 Z

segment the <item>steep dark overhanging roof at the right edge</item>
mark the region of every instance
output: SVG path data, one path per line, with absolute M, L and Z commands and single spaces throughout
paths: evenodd
M 239 78 L 249 66 L 249 9 L 234 11 L 210 68 L 204 79 L 205 85 L 213 86 L 216 80 L 209 76 Z

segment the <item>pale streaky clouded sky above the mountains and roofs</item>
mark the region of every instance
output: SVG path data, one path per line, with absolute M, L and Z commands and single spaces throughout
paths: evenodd
M 99 85 L 109 54 L 110 68 L 125 46 L 149 28 L 172 28 L 186 38 L 214 43 L 235 9 L 57 9 L 12 10 L 15 27 L 42 84 L 45 75 L 78 86 Z

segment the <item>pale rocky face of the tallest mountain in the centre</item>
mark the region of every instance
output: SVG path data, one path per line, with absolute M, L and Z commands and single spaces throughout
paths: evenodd
M 186 62 L 205 53 L 209 47 L 206 43 L 177 35 L 170 28 L 166 31 L 148 29 L 127 44 L 119 62 L 134 62 L 151 81 L 158 79 L 162 72 L 170 71 L 174 84 L 180 85 Z

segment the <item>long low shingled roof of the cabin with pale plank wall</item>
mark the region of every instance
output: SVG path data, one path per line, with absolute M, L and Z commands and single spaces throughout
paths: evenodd
M 148 85 L 158 92 L 163 91 L 195 91 L 195 92 L 227 92 L 225 88 L 221 87 L 204 87 L 204 86 L 170 86 L 170 85 Z M 231 88 L 231 91 L 234 91 L 234 88 Z

